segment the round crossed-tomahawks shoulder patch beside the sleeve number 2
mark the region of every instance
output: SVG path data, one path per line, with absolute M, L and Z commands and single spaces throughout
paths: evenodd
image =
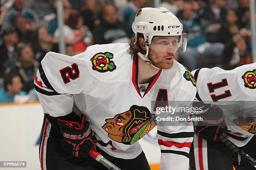
M 115 63 L 111 61 L 113 54 L 110 52 L 99 52 L 95 54 L 90 61 L 92 62 L 92 70 L 98 72 L 108 72 L 116 69 Z

